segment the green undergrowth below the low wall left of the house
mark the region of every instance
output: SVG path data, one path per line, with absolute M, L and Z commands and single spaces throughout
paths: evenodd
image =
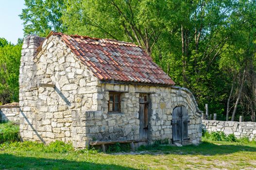
M 0 123 L 0 143 L 20 141 L 19 126 L 13 122 Z

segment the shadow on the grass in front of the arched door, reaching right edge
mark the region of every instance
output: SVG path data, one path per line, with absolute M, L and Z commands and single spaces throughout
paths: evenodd
M 256 146 L 239 145 L 237 143 L 227 145 L 223 143 L 202 142 L 199 146 L 188 145 L 183 147 L 175 146 L 157 146 L 142 147 L 139 151 L 149 151 L 149 154 L 190 154 L 190 155 L 222 155 L 237 152 L 255 152 Z

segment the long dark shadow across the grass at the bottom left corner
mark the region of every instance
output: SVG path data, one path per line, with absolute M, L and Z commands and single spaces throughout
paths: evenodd
M 0 169 L 33 169 L 33 170 L 136 170 L 111 164 L 97 164 L 83 161 L 68 161 L 67 159 L 45 159 L 0 154 Z

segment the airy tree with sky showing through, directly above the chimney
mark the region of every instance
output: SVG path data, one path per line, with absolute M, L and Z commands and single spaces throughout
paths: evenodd
M 46 36 L 51 30 L 65 32 L 62 15 L 66 10 L 65 0 L 25 0 L 20 19 L 24 20 L 24 34 Z

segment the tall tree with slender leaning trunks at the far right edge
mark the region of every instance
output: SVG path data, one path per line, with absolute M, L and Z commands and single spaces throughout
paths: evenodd
M 245 83 L 251 82 L 252 80 L 247 79 L 249 69 L 254 68 L 252 66 L 255 63 L 256 54 L 256 2 L 255 1 L 239 1 L 234 5 L 232 14 L 229 18 L 229 34 L 230 39 L 228 41 L 228 46 L 226 47 L 226 52 L 222 55 L 221 67 L 228 68 L 232 72 L 233 81 L 237 80 L 237 94 L 236 102 L 234 104 L 234 109 L 232 112 L 231 120 L 235 120 L 235 115 L 239 102 L 242 97 Z M 251 67 L 248 67 L 251 66 Z M 233 82 L 234 83 L 234 82 Z M 232 83 L 232 84 L 233 84 Z M 251 84 L 251 83 L 249 83 Z M 233 85 L 232 85 L 233 87 Z M 231 88 L 230 97 L 233 93 Z M 251 94 L 252 91 L 251 91 Z M 255 98 L 255 97 L 253 97 Z M 229 102 L 227 105 L 227 117 Z M 228 118 L 227 118 L 228 119 Z

